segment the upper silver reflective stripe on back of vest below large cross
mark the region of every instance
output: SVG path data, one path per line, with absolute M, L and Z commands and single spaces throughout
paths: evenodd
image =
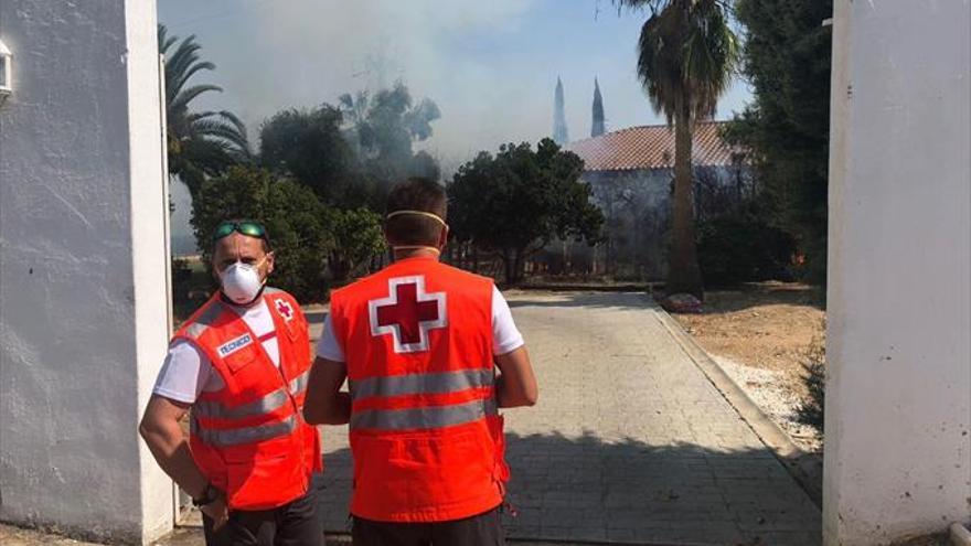
M 351 382 L 351 397 L 356 400 L 370 396 L 459 393 L 469 388 L 491 387 L 493 378 L 491 368 L 367 377 Z

